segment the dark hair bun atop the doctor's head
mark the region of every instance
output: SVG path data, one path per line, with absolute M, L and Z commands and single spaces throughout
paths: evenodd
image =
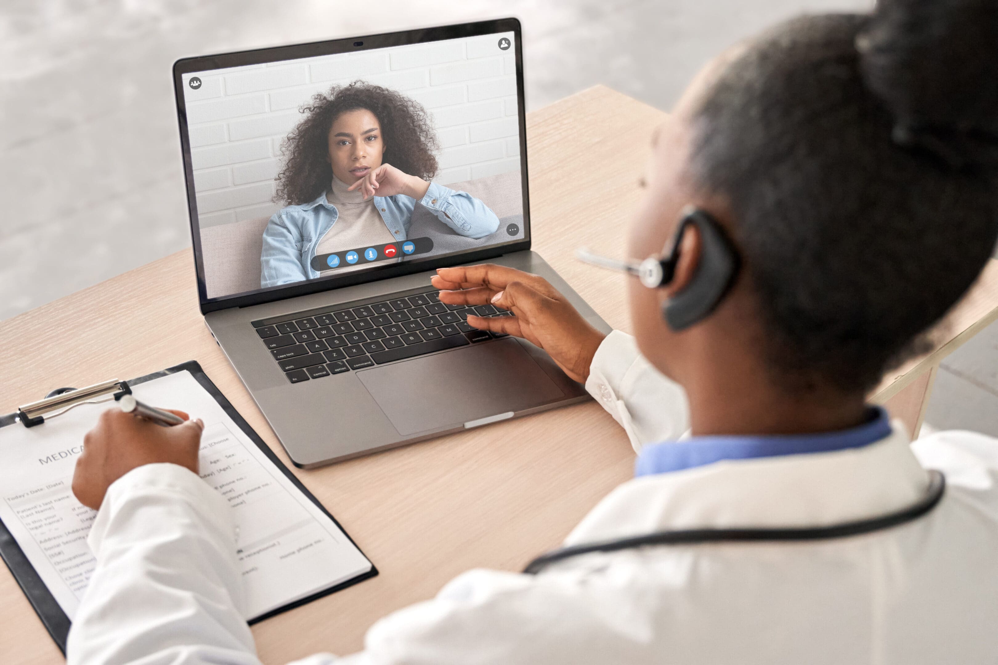
M 998 157 L 998 1 L 878 0 L 856 48 L 895 143 L 950 166 Z

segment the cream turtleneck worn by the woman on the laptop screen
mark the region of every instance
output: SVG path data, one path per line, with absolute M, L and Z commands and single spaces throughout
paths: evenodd
M 388 227 L 384 225 L 384 220 L 374 205 L 374 198 L 364 200 L 359 189 L 347 191 L 348 186 L 350 185 L 335 175 L 332 176 L 332 188 L 325 192 L 325 197 L 336 206 L 339 216 L 333 222 L 332 228 L 318 241 L 318 245 L 315 247 L 316 256 L 357 249 L 358 247 L 360 249 L 357 253 L 360 253 L 363 251 L 363 247 L 384 244 L 395 239 Z M 323 277 L 333 273 L 339 275 L 365 265 L 369 265 L 369 263 L 361 261 L 356 265 L 347 265 L 343 261 L 339 267 L 322 270 L 319 274 Z

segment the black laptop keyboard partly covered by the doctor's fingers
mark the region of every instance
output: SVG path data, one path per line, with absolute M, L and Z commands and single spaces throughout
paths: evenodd
M 253 321 L 256 334 L 291 383 L 505 337 L 472 328 L 467 318 L 512 316 L 493 305 L 445 305 L 435 289 L 315 312 Z

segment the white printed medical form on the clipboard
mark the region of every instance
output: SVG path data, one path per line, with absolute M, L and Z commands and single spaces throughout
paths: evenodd
M 287 478 L 189 371 L 132 386 L 139 400 L 205 422 L 201 478 L 229 502 L 247 619 L 373 569 L 313 499 Z M 87 534 L 97 512 L 71 490 L 84 434 L 111 398 L 81 404 L 36 427 L 0 428 L 0 519 L 70 620 L 96 560 Z

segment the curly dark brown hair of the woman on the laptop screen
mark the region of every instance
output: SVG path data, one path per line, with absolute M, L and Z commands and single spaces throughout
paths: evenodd
M 340 114 L 357 109 L 370 111 L 381 125 L 385 147 L 382 164 L 432 179 L 437 171 L 438 144 L 426 110 L 393 90 L 354 81 L 315 95 L 298 110 L 305 118 L 281 144 L 284 165 L 277 174 L 275 202 L 307 203 L 329 188 L 329 129 Z

